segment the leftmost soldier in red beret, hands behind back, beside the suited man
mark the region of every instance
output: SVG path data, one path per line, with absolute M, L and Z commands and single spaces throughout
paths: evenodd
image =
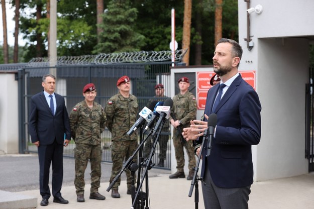
M 84 172 L 90 161 L 90 199 L 104 200 L 98 193 L 101 176 L 101 132 L 106 125 L 106 114 L 100 104 L 94 101 L 96 88 L 88 83 L 83 88 L 85 99 L 77 103 L 70 113 L 71 135 L 75 140 L 75 179 L 77 201 L 84 202 Z

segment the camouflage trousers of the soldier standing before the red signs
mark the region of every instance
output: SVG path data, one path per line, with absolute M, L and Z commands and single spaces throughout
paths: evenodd
M 175 151 L 175 159 L 177 161 L 177 171 L 183 172 L 184 171 L 184 150 L 183 147 L 186 149 L 186 153 L 188 155 L 188 169 L 190 171 L 196 166 L 196 159 L 194 155 L 194 148 L 192 146 L 192 141 L 186 141 L 185 145 L 180 139 L 180 136 L 177 136 L 177 129 L 173 129 L 173 146 Z

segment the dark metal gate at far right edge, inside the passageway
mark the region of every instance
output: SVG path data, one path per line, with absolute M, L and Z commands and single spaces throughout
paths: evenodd
M 308 159 L 308 172 L 314 171 L 314 67 L 309 68 L 309 82 L 305 87 L 305 158 Z

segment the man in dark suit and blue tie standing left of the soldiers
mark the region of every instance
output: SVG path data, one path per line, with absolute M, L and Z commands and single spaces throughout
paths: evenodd
M 29 131 L 32 143 L 37 146 L 39 158 L 40 194 L 43 197 L 40 205 L 48 205 L 50 197 L 49 169 L 52 163 L 52 195 L 53 201 L 67 204 L 61 196 L 63 180 L 63 146 L 71 140 L 69 116 L 64 98 L 55 93 L 56 78 L 44 75 L 44 90 L 32 96 Z

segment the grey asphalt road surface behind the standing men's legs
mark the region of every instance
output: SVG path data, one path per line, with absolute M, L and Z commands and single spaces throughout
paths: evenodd
M 74 184 L 74 158 L 63 158 L 63 186 Z M 4 191 L 24 191 L 39 189 L 39 162 L 37 154 L 0 155 L 1 181 L 0 190 Z M 100 183 L 108 183 L 111 175 L 111 163 L 101 163 Z M 50 167 L 50 185 L 51 185 Z M 148 176 L 153 177 L 158 174 L 169 174 L 170 170 L 152 168 L 148 170 Z M 125 172 L 121 175 L 121 180 L 126 180 Z M 90 183 L 90 164 L 85 171 L 85 183 Z

